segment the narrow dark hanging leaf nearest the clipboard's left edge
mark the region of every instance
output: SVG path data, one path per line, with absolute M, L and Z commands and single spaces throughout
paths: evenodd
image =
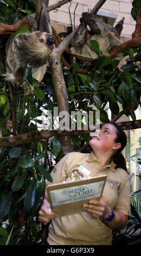
M 39 185 L 39 187 L 36 190 L 36 198 L 35 198 L 35 202 L 31 211 L 31 215 L 34 217 L 38 214 L 42 202 L 43 202 L 43 198 L 44 198 L 44 191 L 45 191 L 45 181 L 43 179 L 42 183 Z

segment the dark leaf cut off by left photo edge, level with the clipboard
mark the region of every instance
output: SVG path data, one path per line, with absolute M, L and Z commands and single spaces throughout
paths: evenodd
M 9 210 L 12 203 L 12 191 L 6 194 L 0 201 L 0 219 L 4 218 Z

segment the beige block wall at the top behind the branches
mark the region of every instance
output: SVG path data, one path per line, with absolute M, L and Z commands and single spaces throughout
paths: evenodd
M 131 38 L 132 33 L 134 32 L 136 22 L 133 20 L 131 16 L 132 9 L 132 1 L 133 0 L 107 0 L 100 10 L 106 11 L 108 13 L 117 14 L 117 19 L 114 23 L 116 26 L 117 22 L 125 17 L 123 31 L 121 32 L 121 36 L 126 36 Z M 59 0 L 49 0 L 49 5 L 52 5 Z M 50 18 L 52 22 L 57 22 L 62 25 L 70 25 L 70 16 L 68 7 L 70 6 L 70 14 L 72 17 L 72 23 L 74 24 L 74 9 L 76 4 L 78 3 L 78 7 L 75 11 L 75 26 L 79 25 L 79 19 L 81 17 L 82 12 L 88 10 L 88 5 L 91 5 L 91 8 L 98 2 L 98 0 L 73 0 L 71 5 L 67 3 L 62 5 L 59 8 L 59 11 L 54 12 L 50 11 Z

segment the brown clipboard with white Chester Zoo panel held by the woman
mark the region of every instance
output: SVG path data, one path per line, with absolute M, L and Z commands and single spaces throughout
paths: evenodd
M 58 216 L 84 211 L 82 205 L 90 199 L 100 200 L 107 175 L 63 182 L 46 187 L 50 208 Z

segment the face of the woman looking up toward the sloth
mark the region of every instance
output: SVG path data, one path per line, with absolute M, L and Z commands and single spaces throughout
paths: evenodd
M 107 151 L 111 149 L 118 149 L 121 147 L 120 143 L 116 143 L 117 129 L 112 124 L 105 124 L 100 130 L 96 130 L 95 135 L 89 141 L 93 150 Z

